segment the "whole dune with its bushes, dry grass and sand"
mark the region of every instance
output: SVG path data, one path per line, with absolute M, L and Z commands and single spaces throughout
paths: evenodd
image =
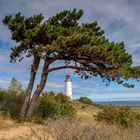
M 34 115 L 21 120 L 24 91 L 16 79 L 0 89 L 0 139 L 140 139 L 140 107 L 101 106 L 87 97 L 71 101 L 62 93 L 43 92 Z

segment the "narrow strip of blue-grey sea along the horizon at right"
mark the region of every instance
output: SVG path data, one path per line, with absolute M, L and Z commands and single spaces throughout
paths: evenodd
M 96 104 L 114 106 L 139 106 L 140 101 L 95 101 Z

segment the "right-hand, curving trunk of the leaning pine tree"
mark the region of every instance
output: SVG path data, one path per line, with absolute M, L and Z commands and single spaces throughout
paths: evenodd
M 41 81 L 40 84 L 37 86 L 37 89 L 35 90 L 33 97 L 30 101 L 29 104 L 29 108 L 27 110 L 27 114 L 26 117 L 31 117 L 36 109 L 37 106 L 37 101 L 38 101 L 38 97 L 41 94 L 41 92 L 43 91 L 46 81 L 47 81 L 47 76 L 48 76 L 48 64 L 45 61 L 44 62 L 44 66 L 43 66 L 43 71 L 42 71 L 42 75 L 41 75 Z

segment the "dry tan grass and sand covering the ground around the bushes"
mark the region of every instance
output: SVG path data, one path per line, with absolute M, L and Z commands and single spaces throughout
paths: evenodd
M 101 108 L 74 101 L 71 105 L 77 116 L 73 120 L 65 117 L 47 118 L 44 124 L 28 122 L 17 123 L 0 117 L 0 139 L 43 139 L 43 140 L 140 140 L 140 123 L 124 129 L 116 125 L 95 120 Z M 131 108 L 136 112 L 140 108 Z M 40 121 L 40 120 L 39 120 Z M 35 118 L 36 122 L 36 118 Z M 38 122 L 38 119 L 37 119 Z M 3 135 L 2 135 L 3 134 Z

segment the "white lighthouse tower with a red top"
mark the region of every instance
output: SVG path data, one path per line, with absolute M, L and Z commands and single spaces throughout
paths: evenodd
M 72 99 L 72 81 L 69 73 L 66 75 L 65 80 L 65 95 Z

